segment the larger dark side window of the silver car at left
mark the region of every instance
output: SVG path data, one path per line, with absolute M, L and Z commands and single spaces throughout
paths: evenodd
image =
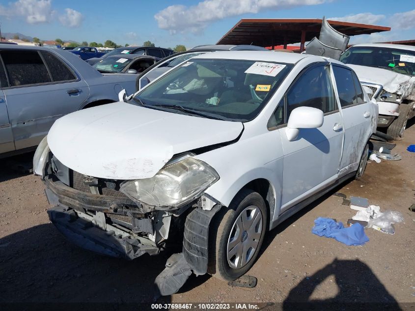
M 52 82 L 46 65 L 37 51 L 2 51 L 10 86 Z

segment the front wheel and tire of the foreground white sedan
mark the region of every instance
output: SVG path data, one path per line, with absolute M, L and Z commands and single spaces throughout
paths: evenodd
M 247 226 L 253 219 L 251 226 L 245 228 L 242 217 L 246 219 Z M 233 281 L 247 273 L 258 256 L 267 221 L 267 208 L 261 195 L 242 189 L 229 207 L 219 211 L 211 223 L 208 273 L 224 281 Z M 248 260 L 244 261 L 243 258 L 247 257 Z

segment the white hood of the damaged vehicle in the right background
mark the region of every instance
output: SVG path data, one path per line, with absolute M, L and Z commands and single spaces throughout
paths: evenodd
M 402 99 L 415 92 L 415 77 L 382 68 L 347 65 L 356 72 L 360 82 L 380 84 L 387 92 L 403 95 Z

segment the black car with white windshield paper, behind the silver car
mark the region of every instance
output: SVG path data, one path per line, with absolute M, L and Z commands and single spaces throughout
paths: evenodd
M 158 62 L 160 58 L 136 54 L 110 55 L 92 67 L 101 73 L 141 73 Z

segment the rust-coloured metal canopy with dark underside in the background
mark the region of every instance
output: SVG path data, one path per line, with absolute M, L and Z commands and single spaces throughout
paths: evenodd
M 320 34 L 322 19 L 242 19 L 217 44 L 252 44 L 275 46 L 310 41 Z M 337 31 L 348 36 L 389 31 L 390 27 L 330 21 Z

